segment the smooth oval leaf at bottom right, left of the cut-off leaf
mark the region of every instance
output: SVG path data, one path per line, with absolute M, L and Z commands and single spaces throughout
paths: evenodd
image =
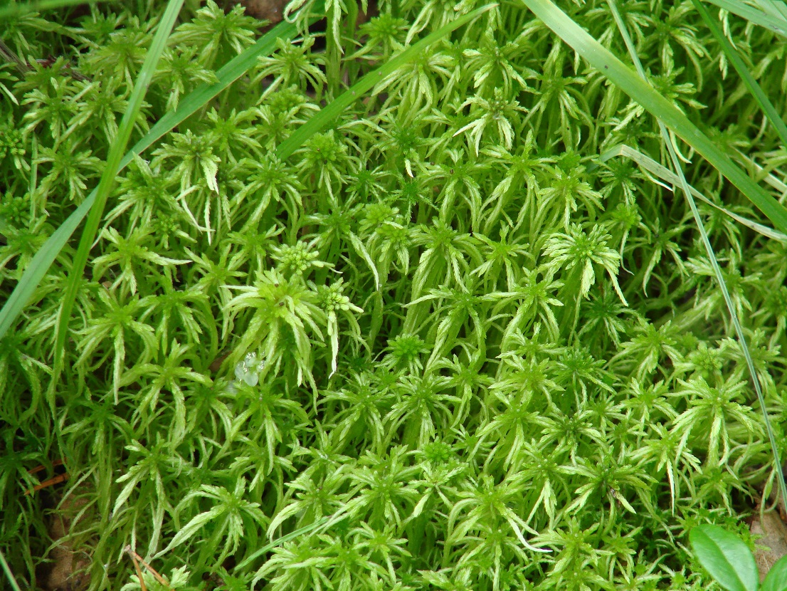
M 748 546 L 719 526 L 697 526 L 689 533 L 696 558 L 727 591 L 756 591 L 757 565 Z

